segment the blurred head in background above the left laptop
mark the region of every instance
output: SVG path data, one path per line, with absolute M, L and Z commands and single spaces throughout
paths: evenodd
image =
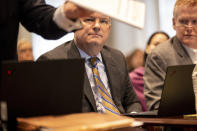
M 18 61 L 34 61 L 32 44 L 27 40 L 19 40 L 17 44 Z

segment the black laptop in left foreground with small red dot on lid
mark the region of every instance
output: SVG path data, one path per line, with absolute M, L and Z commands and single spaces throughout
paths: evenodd
M 82 111 L 84 59 L 3 62 L 1 66 L 0 100 L 7 104 L 8 122 Z

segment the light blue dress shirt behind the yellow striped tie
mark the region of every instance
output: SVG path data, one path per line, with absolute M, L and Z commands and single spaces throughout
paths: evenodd
M 97 110 L 98 110 L 98 112 L 105 113 L 105 108 L 104 108 L 104 106 L 102 104 L 102 98 L 101 98 L 101 96 L 100 96 L 100 94 L 98 92 L 98 89 L 96 87 L 95 80 L 94 80 L 94 77 L 93 77 L 93 72 L 92 72 L 92 68 L 91 68 L 92 65 L 91 65 L 91 63 L 89 61 L 91 56 L 86 54 L 80 48 L 78 48 L 78 50 L 80 52 L 81 57 L 85 58 L 86 73 L 88 75 L 88 79 L 89 79 L 89 82 L 90 82 L 90 85 L 91 85 L 91 88 L 92 88 L 92 92 L 94 94 L 94 99 L 96 101 Z M 108 84 L 108 78 L 107 78 L 105 66 L 103 64 L 103 60 L 102 60 L 102 57 L 101 57 L 101 53 L 99 53 L 96 57 L 99 59 L 99 61 L 97 63 L 97 67 L 98 67 L 98 72 L 99 72 L 100 78 L 101 78 L 102 82 L 104 83 L 105 88 L 107 89 L 107 91 L 111 95 L 111 92 L 110 92 L 110 89 L 109 89 L 109 84 Z

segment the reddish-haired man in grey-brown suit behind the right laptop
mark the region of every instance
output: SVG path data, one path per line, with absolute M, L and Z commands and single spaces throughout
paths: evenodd
M 177 0 L 173 28 L 176 36 L 148 56 L 144 94 L 149 110 L 157 110 L 168 66 L 197 63 L 197 0 Z

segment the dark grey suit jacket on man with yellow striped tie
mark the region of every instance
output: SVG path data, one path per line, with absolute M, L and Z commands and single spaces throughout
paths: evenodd
M 121 113 L 141 111 L 141 105 L 131 86 L 124 55 L 104 46 L 101 55 L 107 70 L 112 98 Z M 80 58 L 74 42 L 67 42 L 42 55 L 38 60 Z M 87 74 L 84 80 L 83 112 L 97 112 Z

